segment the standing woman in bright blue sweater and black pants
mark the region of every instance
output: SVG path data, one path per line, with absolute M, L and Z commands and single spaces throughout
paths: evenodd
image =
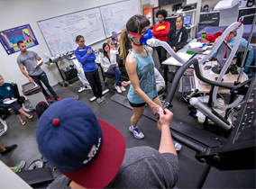
M 87 80 L 96 96 L 96 102 L 102 103 L 105 101 L 105 97 L 102 94 L 102 86 L 95 61 L 95 51 L 91 47 L 85 45 L 85 39 L 81 35 L 77 36 L 76 42 L 78 43 L 78 48 L 74 53 L 78 61 L 82 64 Z

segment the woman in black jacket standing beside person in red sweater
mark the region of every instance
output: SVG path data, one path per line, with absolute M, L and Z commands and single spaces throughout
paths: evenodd
M 183 23 L 184 17 L 179 15 L 176 19 L 176 26 L 171 28 L 168 33 L 167 42 L 175 52 L 187 44 L 188 32 Z

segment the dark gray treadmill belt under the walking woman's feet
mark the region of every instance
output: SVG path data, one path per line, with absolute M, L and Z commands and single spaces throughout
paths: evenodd
M 122 96 L 117 94 L 118 96 Z M 120 98 L 121 100 L 123 97 Z M 123 102 L 124 103 L 124 102 Z M 149 108 L 146 108 L 150 110 Z M 146 111 L 145 111 L 146 112 Z M 151 112 L 152 114 L 152 112 Z M 157 128 L 156 121 L 146 116 L 138 122 L 140 130 L 145 135 L 144 139 L 135 139 L 133 133 L 129 131 L 131 116 L 133 111 L 130 108 L 111 101 L 96 112 L 96 116 L 112 124 L 120 130 L 126 141 L 126 148 L 138 146 L 150 146 L 158 149 L 160 146 L 160 130 Z M 204 181 L 204 175 L 208 171 L 208 165 L 199 163 L 195 158 L 196 151 L 183 145 L 178 151 L 179 178 L 176 186 L 178 188 L 198 188 Z

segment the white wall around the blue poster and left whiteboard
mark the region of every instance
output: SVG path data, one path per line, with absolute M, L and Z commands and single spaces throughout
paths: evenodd
M 0 31 L 30 24 L 36 39 L 39 41 L 39 45 L 29 50 L 33 50 L 42 56 L 44 53 L 50 55 L 50 50 L 41 34 L 37 21 L 120 1 L 123 0 L 1 0 L 0 17 L 2 19 Z M 92 45 L 92 48 L 102 48 L 103 42 L 105 42 L 105 40 L 97 42 Z M 7 55 L 3 46 L 0 46 L 0 75 L 5 77 L 5 82 L 17 83 L 21 93 L 21 86 L 27 83 L 28 79 L 23 76 L 16 62 L 16 58 L 20 52 Z M 62 60 L 59 62 L 59 67 L 67 67 L 69 64 L 69 60 Z M 41 68 L 46 72 L 50 85 L 56 85 L 61 81 L 59 71 L 55 65 L 49 67 L 42 65 Z

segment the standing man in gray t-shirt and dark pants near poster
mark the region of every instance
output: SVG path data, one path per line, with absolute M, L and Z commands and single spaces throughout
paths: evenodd
M 23 75 L 26 76 L 30 82 L 34 81 L 41 86 L 42 93 L 45 95 L 47 102 L 50 102 L 50 95 L 43 88 L 41 82 L 47 87 L 50 94 L 54 96 L 55 100 L 59 101 L 59 96 L 57 96 L 57 94 L 53 91 L 45 72 L 41 69 L 42 62 L 40 65 L 37 64 L 37 60 L 41 60 L 38 54 L 33 51 L 28 51 L 22 40 L 17 42 L 17 46 L 21 50 L 21 54 L 17 58 L 17 63 L 23 72 Z M 26 67 L 28 73 L 25 71 L 24 67 Z

